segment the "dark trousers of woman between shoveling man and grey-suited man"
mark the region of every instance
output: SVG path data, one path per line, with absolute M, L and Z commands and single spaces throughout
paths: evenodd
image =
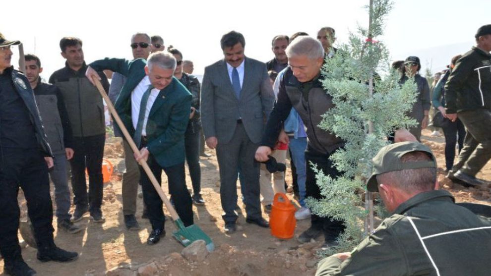
M 186 150 L 186 163 L 191 177 L 192 191 L 195 195 L 201 192 L 201 167 L 199 166 L 199 130 L 192 125 L 187 126 L 184 133 L 184 147 Z

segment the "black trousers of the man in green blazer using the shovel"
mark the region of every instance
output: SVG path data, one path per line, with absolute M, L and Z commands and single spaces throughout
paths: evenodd
M 165 171 L 169 183 L 169 193 L 174 200 L 174 206 L 179 217 L 185 226 L 192 225 L 192 203 L 191 196 L 186 187 L 186 175 L 184 172 L 184 163 L 162 167 L 160 166 L 152 154 L 148 156 L 147 164 L 152 170 L 153 175 L 157 178 L 159 185 L 162 185 L 162 170 Z M 143 192 L 143 201 L 147 206 L 147 214 L 153 229 L 164 229 L 164 210 L 162 199 L 155 190 L 155 187 L 150 182 L 147 173 L 140 166 L 140 183 Z

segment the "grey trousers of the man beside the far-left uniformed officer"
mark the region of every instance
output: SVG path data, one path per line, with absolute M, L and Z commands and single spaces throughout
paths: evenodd
M 68 161 L 64 153 L 55 155 L 54 167 L 50 169 L 51 181 L 55 185 L 56 216 L 59 221 L 69 220 L 70 189 L 68 187 Z

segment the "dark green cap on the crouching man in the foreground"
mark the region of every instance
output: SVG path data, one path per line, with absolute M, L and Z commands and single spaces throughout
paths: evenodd
M 429 153 L 432 161 L 401 162 L 401 157 L 410 152 Z M 370 192 L 378 192 L 378 183 L 375 177 L 377 174 L 403 169 L 436 167 L 436 159 L 430 148 L 418 142 L 401 142 L 385 146 L 378 151 L 372 162 L 373 169 L 367 182 L 367 189 Z

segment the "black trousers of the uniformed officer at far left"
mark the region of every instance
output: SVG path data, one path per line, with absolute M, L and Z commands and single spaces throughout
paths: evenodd
M 22 258 L 17 230 L 19 187 L 34 226 L 38 248 L 53 244 L 53 205 L 48 166 L 38 149 L 2 149 L 0 166 L 0 252 L 6 262 Z

